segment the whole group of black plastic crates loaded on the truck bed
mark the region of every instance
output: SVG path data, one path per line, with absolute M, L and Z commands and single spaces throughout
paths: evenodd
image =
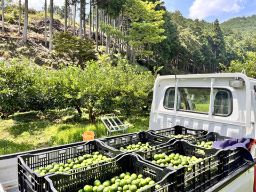
M 170 134 L 189 136 L 167 137 Z M 207 133 L 204 130 L 175 126 L 158 131 L 140 131 L 91 140 L 80 146 L 47 151 L 42 154 L 22 155 L 18 157 L 19 190 L 78 192 L 80 189 L 82 191 L 85 185 L 93 185 L 95 180 L 103 182 L 121 173 L 130 172 L 142 174 L 143 177 L 149 177 L 155 181 L 154 185 L 147 186 L 140 191 L 205 191 L 246 162 L 239 149 L 207 149 L 196 145 L 196 143 L 227 139 L 230 138 L 223 137 L 218 133 Z M 152 147 L 143 150 L 123 150 L 129 145 L 137 145 L 139 142 L 149 143 Z M 39 167 L 74 159 L 95 151 L 110 157 L 111 161 L 79 167 L 65 173 L 39 175 L 34 172 Z M 183 156 L 195 156 L 200 160 L 179 167 L 154 162 L 154 156 L 163 153 L 165 157 L 178 153 Z

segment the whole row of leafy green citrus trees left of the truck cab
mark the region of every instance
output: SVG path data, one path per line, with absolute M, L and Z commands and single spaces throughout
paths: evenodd
M 61 66 L 47 70 L 28 61 L 0 62 L 0 115 L 16 111 L 81 107 L 89 110 L 95 124 L 97 116 L 113 111 L 129 114 L 149 106 L 156 74 L 139 73 L 126 59 L 114 65 L 107 56 L 80 66 Z

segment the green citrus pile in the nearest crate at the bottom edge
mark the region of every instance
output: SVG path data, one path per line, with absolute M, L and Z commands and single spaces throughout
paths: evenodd
M 154 185 L 155 181 L 151 178 L 143 178 L 142 174 L 135 173 L 122 173 L 119 176 L 115 176 L 109 180 L 101 183 L 99 180 L 95 180 L 92 185 L 85 185 L 83 189 L 78 192 L 136 192 L 145 189 L 151 185 Z M 161 187 L 156 185 L 155 188 Z

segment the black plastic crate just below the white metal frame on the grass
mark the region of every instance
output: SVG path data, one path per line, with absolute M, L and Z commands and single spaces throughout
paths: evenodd
M 119 149 L 120 147 L 125 148 L 126 146 L 137 144 L 138 142 L 142 142 L 142 143 L 149 142 L 149 145 L 153 147 L 153 146 L 161 145 L 162 143 L 166 143 L 170 140 L 173 140 L 173 139 L 166 138 L 161 135 L 152 134 L 148 131 L 140 131 L 134 134 L 126 135 L 125 137 L 110 137 L 110 138 L 100 139 L 100 141 L 104 142 L 107 146 L 115 149 Z M 125 151 L 125 150 L 122 150 L 122 151 Z

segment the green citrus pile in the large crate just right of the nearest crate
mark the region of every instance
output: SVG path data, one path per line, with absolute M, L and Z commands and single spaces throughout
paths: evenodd
M 195 156 L 185 156 L 185 155 L 180 155 L 179 153 L 172 153 L 169 156 L 166 155 L 165 153 L 162 154 L 156 154 L 154 155 L 154 160 L 152 161 L 153 163 L 157 163 L 158 165 L 161 166 L 172 166 L 174 168 L 178 168 L 181 166 L 189 166 L 192 165 L 198 161 L 202 161 L 203 158 L 197 158 Z

